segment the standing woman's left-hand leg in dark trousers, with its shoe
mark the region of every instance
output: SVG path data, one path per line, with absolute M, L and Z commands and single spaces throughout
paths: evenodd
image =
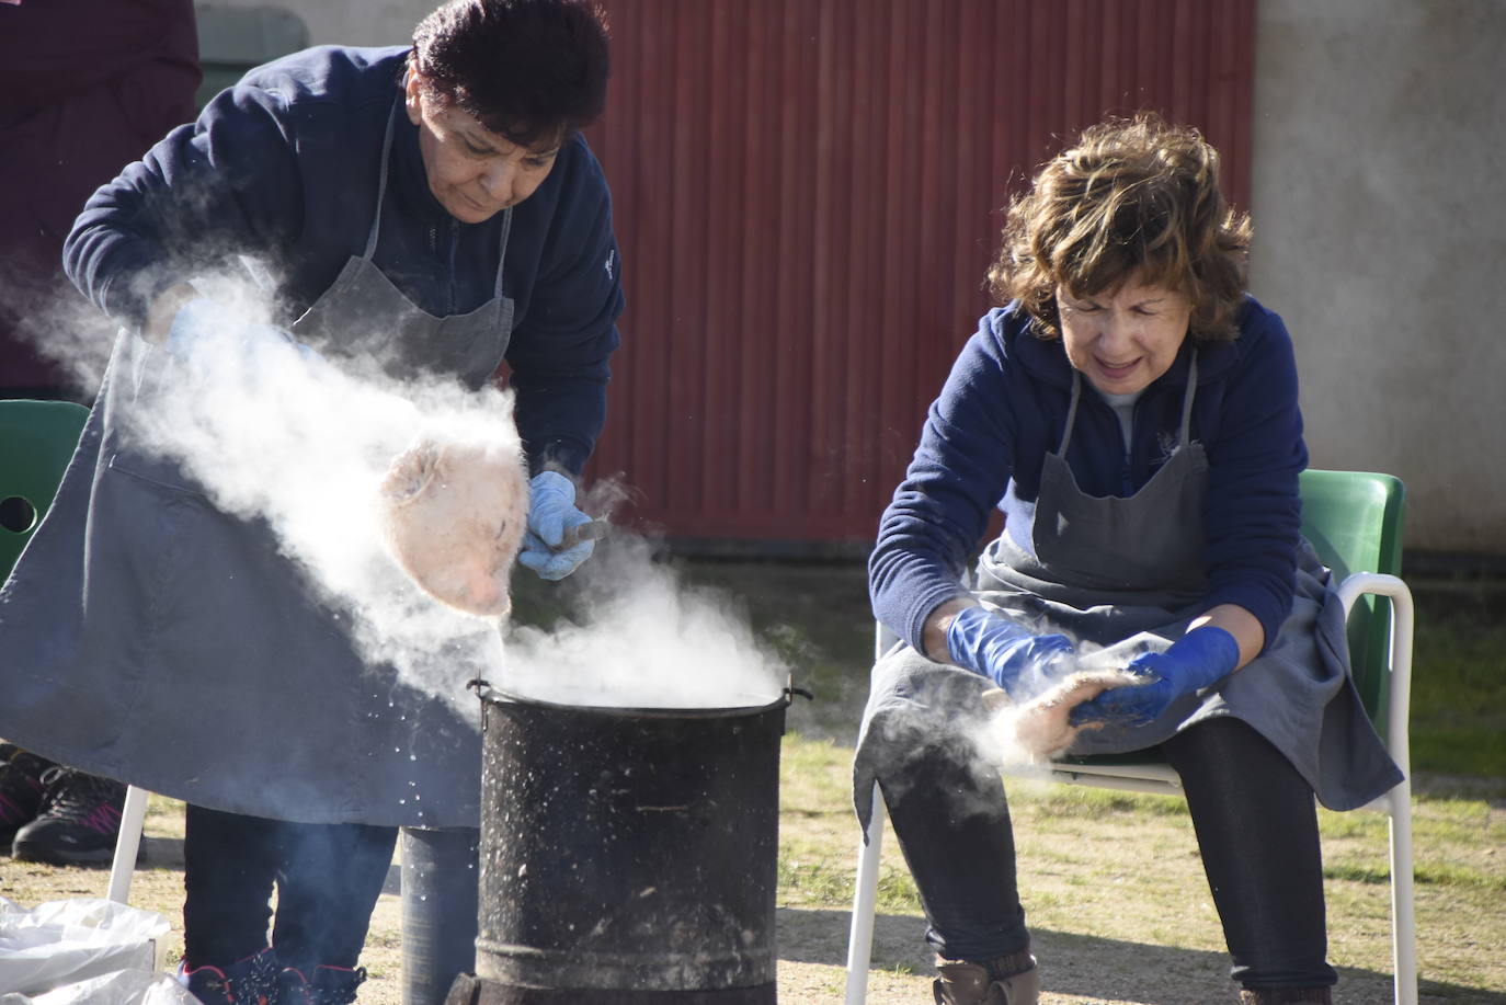
M 188 805 L 184 812 L 184 963 L 205 1005 L 271 996 L 279 964 L 267 945 L 282 853 L 277 820 Z

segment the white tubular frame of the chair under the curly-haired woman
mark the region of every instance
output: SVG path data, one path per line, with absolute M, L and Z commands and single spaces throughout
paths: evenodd
M 1413 847 L 1411 847 L 1411 755 L 1407 723 L 1411 707 L 1413 600 L 1411 591 L 1396 576 L 1354 573 L 1337 588 L 1348 618 L 1355 601 L 1372 594 L 1392 601 L 1390 684 L 1386 746 L 1401 767 L 1404 779 L 1393 790 L 1370 803 L 1390 817 L 1392 850 L 1392 967 L 1396 1005 L 1417 1005 L 1417 924 L 1413 907 Z M 875 658 L 895 642 L 895 636 L 880 627 Z M 1032 777 L 1039 777 L 1033 773 Z M 1051 779 L 1065 785 L 1090 785 L 1134 793 L 1181 796 L 1182 782 L 1167 764 L 1066 764 L 1056 762 Z M 858 844 L 857 880 L 852 897 L 852 927 L 848 936 L 846 1005 L 863 1005 L 867 997 L 867 970 L 873 951 L 873 916 L 878 901 L 878 862 L 887 817 L 883 793 L 873 785 L 872 814 L 867 832 Z

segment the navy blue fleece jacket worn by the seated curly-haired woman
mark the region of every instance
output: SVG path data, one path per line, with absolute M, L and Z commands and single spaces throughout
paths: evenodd
M 1292 607 L 1307 466 L 1297 363 L 1286 325 L 1253 298 L 1233 342 L 1199 344 L 1191 437 L 1208 454 L 1206 606 L 1247 609 L 1270 645 Z M 1136 402 L 1131 449 L 1119 419 L 1084 384 L 1068 466 L 1090 496 L 1130 496 L 1176 446 L 1193 341 Z M 932 402 L 905 481 L 869 559 L 873 613 L 917 649 L 926 618 L 962 592 L 959 577 L 1011 479 L 1033 502 L 1062 443 L 1072 368 L 1060 339 L 1029 330 L 1015 304 L 979 322 Z

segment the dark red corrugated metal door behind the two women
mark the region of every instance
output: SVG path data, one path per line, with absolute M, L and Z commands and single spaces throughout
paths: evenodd
M 628 309 L 592 473 L 673 538 L 872 538 L 1072 131 L 1157 108 L 1247 199 L 1254 0 L 604 6 Z

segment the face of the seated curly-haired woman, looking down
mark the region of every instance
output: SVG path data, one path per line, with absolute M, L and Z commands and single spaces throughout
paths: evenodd
M 1134 276 L 1083 298 L 1057 286 L 1056 306 L 1068 362 L 1107 395 L 1134 393 L 1169 371 L 1193 315 L 1187 297 Z

